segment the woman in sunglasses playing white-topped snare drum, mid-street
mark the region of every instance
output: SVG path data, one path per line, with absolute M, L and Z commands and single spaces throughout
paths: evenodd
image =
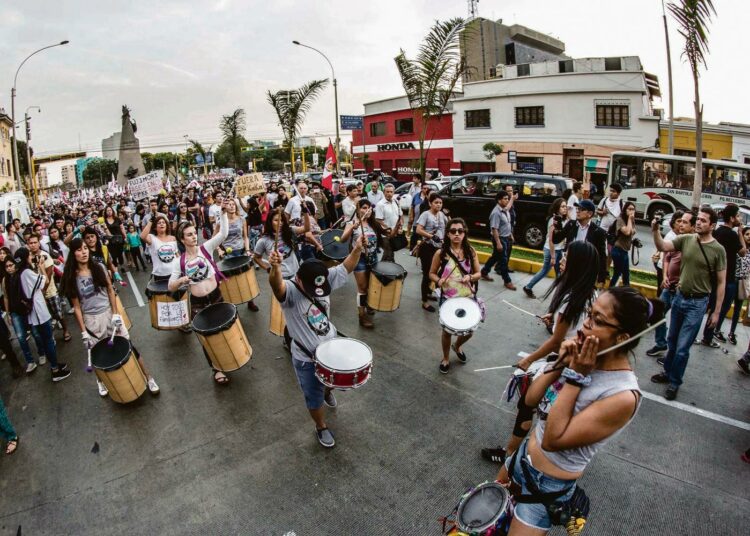
M 442 213 L 441 213 L 442 214 Z M 453 218 L 448 222 L 448 240 L 432 256 L 428 276 L 440 289 L 440 305 L 450 298 L 475 298 L 476 285 L 482 277 L 479 257 L 469 244 L 466 222 L 462 218 Z M 466 363 L 466 354 L 461 347 L 471 339 L 473 334 L 459 335 L 451 346 L 451 334 L 443 330 L 440 343 L 443 358 L 440 361 L 440 372 L 448 374 L 450 368 L 450 351 L 456 352 L 458 360 Z

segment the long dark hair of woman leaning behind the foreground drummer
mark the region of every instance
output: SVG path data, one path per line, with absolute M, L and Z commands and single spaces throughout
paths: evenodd
M 596 248 L 581 240 L 571 242 L 566 253 L 565 271 L 544 295 L 546 299 L 552 294 L 547 312 L 555 314 L 567 302 L 561 313 L 563 320 L 568 324 L 575 323 L 593 301 L 598 276 L 599 253 Z

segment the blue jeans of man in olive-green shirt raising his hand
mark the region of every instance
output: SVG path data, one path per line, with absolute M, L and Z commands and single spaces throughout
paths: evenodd
M 690 347 L 701 329 L 703 315 L 706 314 L 708 296 L 705 298 L 688 299 L 678 290 L 672 298 L 672 314 L 669 322 L 669 337 L 667 339 L 667 357 L 664 359 L 664 373 L 669 377 L 672 387 L 682 385 Z

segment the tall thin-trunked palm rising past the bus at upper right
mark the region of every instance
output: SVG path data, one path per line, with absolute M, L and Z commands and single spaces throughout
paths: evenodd
M 680 0 L 667 5 L 669 12 L 677 22 L 677 31 L 685 39 L 682 56 L 693 72 L 695 89 L 695 180 L 693 181 L 693 210 L 697 210 L 701 201 L 703 187 L 703 106 L 699 88 L 700 66 L 706 66 L 708 53 L 708 22 L 711 15 L 716 15 L 712 0 Z

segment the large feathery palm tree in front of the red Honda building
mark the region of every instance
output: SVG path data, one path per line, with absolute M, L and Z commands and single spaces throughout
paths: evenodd
M 419 126 L 419 170 L 423 177 L 429 151 L 429 146 L 425 148 L 425 138 L 430 119 L 445 112 L 456 84 L 467 71 L 459 50 L 459 36 L 465 28 L 466 22 L 461 18 L 435 21 L 415 59 L 407 59 L 403 49 L 395 58 L 415 126 Z

